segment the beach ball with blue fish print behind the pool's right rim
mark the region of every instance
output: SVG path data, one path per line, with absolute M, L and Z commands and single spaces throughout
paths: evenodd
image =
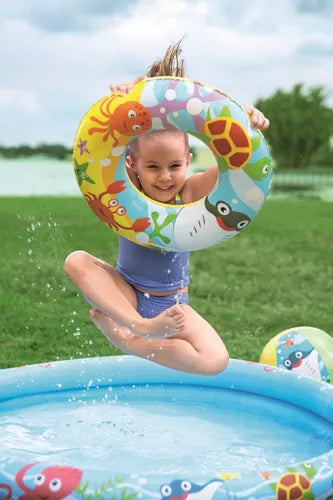
M 332 383 L 333 338 L 311 326 L 289 328 L 265 345 L 260 363 Z

